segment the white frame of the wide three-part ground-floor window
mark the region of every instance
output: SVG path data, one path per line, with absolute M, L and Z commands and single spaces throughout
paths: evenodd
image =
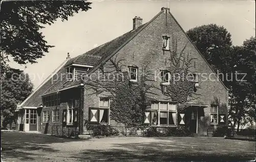
M 157 103 L 157 104 L 156 104 Z M 161 103 L 167 103 L 167 110 L 161 110 Z M 178 121 L 178 117 L 177 117 L 177 104 L 174 104 L 173 102 L 167 102 L 167 101 L 153 101 L 151 104 L 154 104 L 154 107 L 157 105 L 158 109 L 150 109 L 150 111 L 157 111 L 157 115 L 158 115 L 158 122 L 157 125 L 152 125 L 152 126 L 177 126 L 177 121 Z M 176 106 L 176 110 L 170 110 L 170 105 L 175 105 Z M 167 112 L 167 124 L 160 124 L 160 114 L 161 112 Z M 169 112 L 174 112 L 176 114 L 176 121 L 175 124 L 169 124 Z

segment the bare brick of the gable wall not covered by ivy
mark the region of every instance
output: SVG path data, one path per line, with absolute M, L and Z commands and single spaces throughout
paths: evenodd
M 169 26 L 168 28 L 166 26 Z M 206 61 L 202 58 L 200 53 L 196 50 L 193 44 L 187 39 L 186 35 L 181 30 L 180 26 L 176 23 L 175 19 L 168 14 L 167 25 L 166 25 L 166 14 L 160 14 L 152 23 L 148 24 L 146 28 L 141 31 L 133 40 L 127 43 L 122 49 L 120 49 L 114 59 L 122 61 L 122 71 L 128 71 L 127 66 L 136 65 L 139 68 L 139 72 L 143 65 L 147 65 L 147 68 L 152 71 L 152 74 L 159 73 L 160 69 L 169 66 L 168 60 L 170 52 L 162 50 L 162 36 L 171 35 L 173 32 L 177 38 L 177 48 L 181 51 L 186 46 L 184 53 L 189 53 L 191 58 L 195 59 L 193 62 L 194 66 L 190 68 L 190 71 L 205 73 L 207 76 L 213 73 Z M 172 40 L 172 39 L 171 39 Z M 170 49 L 172 50 L 172 45 Z M 97 71 L 95 72 L 97 73 Z M 210 105 L 215 102 L 215 98 L 220 100 L 221 104 L 226 105 L 225 108 L 220 107 L 219 113 L 225 113 L 227 116 L 227 103 L 228 103 L 228 92 L 224 88 L 221 82 L 217 79 L 214 74 L 210 75 L 212 80 L 201 81 L 199 76 L 199 88 L 197 93 L 200 95 L 199 98 L 193 95 L 190 100 L 193 103 L 203 103 Z M 154 79 L 154 78 L 153 78 Z M 154 86 L 160 89 L 159 79 L 154 82 Z M 160 90 L 155 89 L 154 93 L 157 95 L 148 94 L 149 97 L 154 98 L 158 101 L 171 101 L 166 99 L 167 97 L 162 94 Z M 84 120 L 88 120 L 89 107 L 98 107 L 98 98 L 100 95 L 96 95 L 95 91 L 86 86 L 84 91 Z M 203 116 L 200 117 L 198 123 L 198 130 L 200 133 L 205 134 L 207 128 L 215 128 L 218 125 L 211 125 L 209 121 L 210 107 L 201 109 Z M 227 121 L 227 120 L 226 120 Z M 111 121 L 110 124 L 116 124 Z

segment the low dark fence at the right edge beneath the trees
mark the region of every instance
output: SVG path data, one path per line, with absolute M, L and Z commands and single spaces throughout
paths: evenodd
M 255 141 L 255 129 L 207 129 L 207 137 L 224 137 L 227 139 Z

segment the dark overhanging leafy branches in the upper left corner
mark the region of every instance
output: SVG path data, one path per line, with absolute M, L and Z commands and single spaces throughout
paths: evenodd
M 8 1 L 1 4 L 1 76 L 9 58 L 18 64 L 36 63 L 49 48 L 40 32 L 58 18 L 62 21 L 91 9 L 87 1 Z

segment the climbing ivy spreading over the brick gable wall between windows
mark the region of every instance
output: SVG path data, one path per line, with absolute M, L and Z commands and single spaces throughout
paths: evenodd
M 191 58 L 189 53 L 185 53 L 184 48 L 178 52 L 177 40 L 173 38 L 172 50 L 169 55 L 169 66 L 167 67 L 170 74 L 179 74 L 185 76 L 184 79 L 170 79 L 170 84 L 165 86 L 163 94 L 166 99 L 178 102 L 178 113 L 184 113 L 185 103 L 188 101 L 188 96 L 194 93 L 194 82 L 186 79 L 186 75 L 190 72 Z M 148 94 L 155 94 L 159 87 L 155 87 L 152 71 L 147 65 L 142 65 L 140 77 L 137 82 L 130 82 L 128 72 L 122 71 L 122 62 L 117 57 L 113 57 L 109 62 L 100 68 L 98 78 L 88 80 L 85 85 L 89 85 L 90 89 L 94 90 L 95 94 L 108 92 L 111 97 L 110 117 L 112 120 L 120 122 L 125 126 L 140 127 L 144 122 L 144 110 L 150 107 L 152 98 Z M 102 75 L 101 75 L 102 74 Z M 111 74 L 111 75 L 110 75 Z M 108 82 L 105 78 L 108 76 Z M 115 77 L 115 78 L 114 78 Z M 172 77 L 171 77 L 172 78 Z M 162 90 L 162 89 L 161 89 Z

